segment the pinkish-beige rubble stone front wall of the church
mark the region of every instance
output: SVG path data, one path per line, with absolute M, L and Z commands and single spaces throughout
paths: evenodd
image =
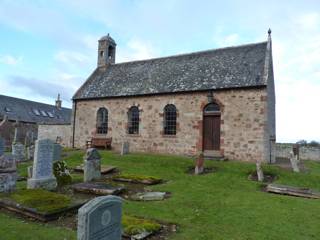
M 168 95 L 136 96 L 82 100 L 77 102 L 75 147 L 84 148 L 96 127 L 97 111 L 108 109 L 108 133 L 112 147 L 121 151 L 123 142 L 132 152 L 198 155 L 202 151 L 203 108 L 208 91 Z M 213 92 L 221 108 L 221 148 L 225 158 L 242 161 L 269 161 L 267 89 L 221 90 Z M 163 109 L 177 108 L 177 134 L 163 134 Z M 139 134 L 127 133 L 127 112 L 131 106 L 140 110 Z M 73 121 L 72 121 L 73 122 Z

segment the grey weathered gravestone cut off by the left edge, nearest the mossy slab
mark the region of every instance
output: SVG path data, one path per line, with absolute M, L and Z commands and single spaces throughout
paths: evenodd
M 16 188 L 17 168 L 12 155 L 0 156 L 0 192 L 12 192 Z

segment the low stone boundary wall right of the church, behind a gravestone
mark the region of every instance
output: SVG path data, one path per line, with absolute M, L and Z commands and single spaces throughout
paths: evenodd
M 289 154 L 291 150 L 292 150 L 292 144 L 277 143 L 276 157 L 289 158 Z M 320 161 L 320 147 L 308 147 L 308 146 L 300 147 L 300 159 Z

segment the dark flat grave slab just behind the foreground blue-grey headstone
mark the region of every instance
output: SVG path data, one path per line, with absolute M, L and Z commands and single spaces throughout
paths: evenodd
M 117 195 L 124 190 L 124 187 L 115 187 L 106 183 L 77 183 L 72 185 L 72 188 L 76 192 L 95 195 Z

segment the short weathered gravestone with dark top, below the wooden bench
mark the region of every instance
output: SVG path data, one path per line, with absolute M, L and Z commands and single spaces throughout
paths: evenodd
M 84 156 L 84 182 L 101 178 L 101 156 L 97 149 L 89 148 Z

